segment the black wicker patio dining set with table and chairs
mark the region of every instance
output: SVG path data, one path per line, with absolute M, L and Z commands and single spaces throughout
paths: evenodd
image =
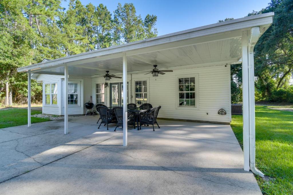
M 154 124 L 158 125 L 159 127 L 157 116 L 160 108 L 161 106 L 153 108 L 150 103 L 144 103 L 139 107 L 137 107 L 137 105 L 134 103 L 127 104 L 127 122 L 129 125 L 132 124 L 134 129 L 135 123 L 137 123 L 137 130 L 141 130 L 142 125 L 153 125 L 153 130 L 155 131 Z M 98 129 L 100 128 L 101 124 L 104 124 L 104 126 L 107 125 L 107 130 L 109 130 L 108 124 L 111 123 L 117 124 L 114 131 L 116 131 L 117 127 L 119 126 L 123 127 L 122 106 L 107 107 L 104 104 L 97 104 L 96 110 L 100 114 L 99 120 L 101 120 Z

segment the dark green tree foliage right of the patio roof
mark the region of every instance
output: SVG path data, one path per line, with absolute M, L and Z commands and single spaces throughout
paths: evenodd
M 248 16 L 268 12 L 275 12 L 273 23 L 260 37 L 254 49 L 255 99 L 293 102 L 289 98 L 293 96 L 293 1 L 271 0 L 266 8 L 253 10 Z M 241 66 L 231 65 L 231 75 L 241 87 Z

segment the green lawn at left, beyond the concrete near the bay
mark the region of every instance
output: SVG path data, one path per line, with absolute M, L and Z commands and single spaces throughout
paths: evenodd
M 32 110 L 31 115 L 41 114 L 41 111 Z M 45 122 L 50 119 L 31 117 L 32 123 Z M 28 124 L 28 110 L 10 108 L 7 110 L 0 110 L 0 128 L 14 127 Z

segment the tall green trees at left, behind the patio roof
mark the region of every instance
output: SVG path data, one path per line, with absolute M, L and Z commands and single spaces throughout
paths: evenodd
M 9 92 L 14 102 L 27 101 L 27 75 L 19 67 L 157 36 L 157 17 L 142 20 L 133 4 L 118 4 L 113 15 L 103 4 L 68 4 L 65 11 L 61 0 L 0 1 L 0 103 Z M 40 94 L 32 81 L 32 101 Z

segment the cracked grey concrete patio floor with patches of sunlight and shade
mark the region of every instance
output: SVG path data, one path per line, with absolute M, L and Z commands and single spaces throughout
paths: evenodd
M 0 194 L 261 194 L 229 125 L 159 120 L 97 129 L 97 116 L 0 130 Z

